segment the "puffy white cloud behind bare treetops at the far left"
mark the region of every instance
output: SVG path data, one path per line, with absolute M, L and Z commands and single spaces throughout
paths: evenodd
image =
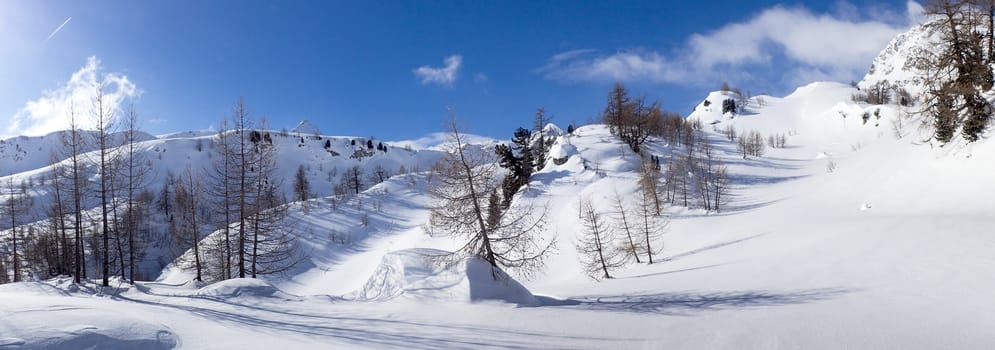
M 99 82 L 104 84 L 104 104 L 117 114 L 128 99 L 137 98 L 141 91 L 128 77 L 120 73 L 104 73 L 100 60 L 95 56 L 72 74 L 69 81 L 54 90 L 45 91 L 36 100 L 28 101 L 11 118 L 6 128 L 8 135 L 44 135 L 68 127 L 70 106 L 76 111 L 77 120 L 86 129 L 92 127 L 90 110 Z

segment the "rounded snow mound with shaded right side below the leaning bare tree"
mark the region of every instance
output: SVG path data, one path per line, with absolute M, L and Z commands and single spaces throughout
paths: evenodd
M 449 252 L 436 249 L 406 249 L 384 255 L 370 279 L 355 292 L 355 299 L 387 301 L 497 300 L 519 305 L 538 305 L 532 292 L 500 269 L 479 258 L 445 261 Z

